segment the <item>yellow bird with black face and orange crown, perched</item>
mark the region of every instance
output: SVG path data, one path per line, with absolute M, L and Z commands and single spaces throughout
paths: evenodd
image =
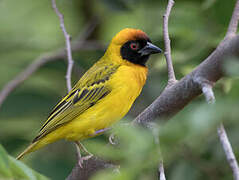
M 142 30 L 118 32 L 105 54 L 59 101 L 17 159 L 61 139 L 76 142 L 79 150 L 88 152 L 80 142 L 101 134 L 127 114 L 146 82 L 146 62 L 150 55 L 161 52 Z

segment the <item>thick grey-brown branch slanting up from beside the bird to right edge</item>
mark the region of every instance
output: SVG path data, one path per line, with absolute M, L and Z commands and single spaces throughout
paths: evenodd
M 147 126 L 157 118 L 171 117 L 202 93 L 197 79 L 217 82 L 223 77 L 224 61 L 231 56 L 239 57 L 239 36 L 223 40 L 217 49 L 194 71 L 166 88 L 161 95 L 133 121 Z

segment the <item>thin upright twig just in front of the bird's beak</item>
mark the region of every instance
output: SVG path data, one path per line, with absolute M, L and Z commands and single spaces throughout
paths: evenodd
M 174 5 L 174 1 L 169 0 L 166 12 L 163 15 L 163 37 L 164 37 L 164 44 L 165 44 L 164 55 L 165 55 L 167 66 L 168 66 L 168 86 L 171 86 L 177 81 L 175 78 L 175 73 L 173 69 L 173 63 L 172 63 L 172 57 L 171 57 L 171 46 L 170 46 L 170 39 L 169 39 L 169 33 L 168 33 L 168 19 L 169 19 L 169 15 L 173 5 Z

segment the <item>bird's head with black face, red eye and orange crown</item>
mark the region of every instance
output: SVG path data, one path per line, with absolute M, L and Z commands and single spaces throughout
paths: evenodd
M 153 45 L 151 40 L 141 30 L 126 28 L 121 30 L 112 39 L 107 54 L 109 53 L 113 60 L 120 57 L 122 63 L 131 62 L 145 66 L 151 54 L 161 53 L 162 50 Z

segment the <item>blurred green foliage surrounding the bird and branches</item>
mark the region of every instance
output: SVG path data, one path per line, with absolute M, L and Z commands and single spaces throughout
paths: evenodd
M 107 45 L 118 31 L 132 27 L 145 31 L 161 48 L 164 48 L 162 15 L 166 3 L 166 0 L 57 0 L 73 40 L 97 17 L 99 24 L 90 40 Z M 223 39 L 234 4 L 235 0 L 176 1 L 169 33 L 178 79 L 191 72 Z M 1 0 L 0 47 L 0 89 L 41 54 L 64 47 L 64 36 L 50 0 Z M 75 52 L 75 66 L 83 73 L 103 54 L 102 48 Z M 92 153 L 121 164 L 121 174 L 106 171 L 94 179 L 156 179 L 161 155 L 170 180 L 232 179 L 216 133 L 218 123 L 224 121 L 239 159 L 239 66 L 232 59 L 228 61 L 225 66 L 228 76 L 214 88 L 216 105 L 209 106 L 199 97 L 170 121 L 161 120 L 154 133 L 126 126 L 116 128 L 121 139 L 118 149 L 106 146 L 107 135 L 84 141 Z M 66 66 L 63 60 L 44 65 L 2 105 L 0 144 L 10 155 L 15 157 L 29 144 L 53 106 L 66 94 Z M 136 117 L 167 83 L 163 55 L 151 57 L 148 67 L 149 77 L 142 94 L 121 122 Z M 79 74 L 73 73 L 73 83 L 77 79 Z M 155 137 L 159 137 L 160 147 L 154 143 Z M 0 158 L 0 167 L 1 161 Z M 69 142 L 57 142 L 26 156 L 23 162 L 51 179 L 61 180 L 76 162 L 75 147 Z

